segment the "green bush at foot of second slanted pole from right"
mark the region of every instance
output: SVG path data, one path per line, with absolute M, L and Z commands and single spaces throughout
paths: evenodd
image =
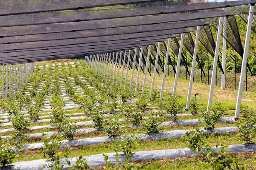
M 206 111 L 202 113 L 205 128 L 207 130 L 213 129 L 224 113 L 225 111 L 221 106 L 221 103 L 217 103 L 215 106 L 210 106 L 208 112 Z M 203 124 L 200 120 L 199 123 Z

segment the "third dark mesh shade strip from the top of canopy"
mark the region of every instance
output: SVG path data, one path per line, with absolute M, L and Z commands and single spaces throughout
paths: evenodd
M 187 20 L 199 20 L 212 17 L 229 15 L 225 11 L 210 11 L 200 13 L 183 13 L 183 14 L 164 14 L 153 16 L 141 16 L 108 20 L 93 20 L 72 23 L 55 23 L 32 26 L 15 26 L 0 28 L 1 37 L 32 35 L 32 34 L 49 34 L 67 32 L 67 34 L 76 34 L 76 31 L 94 31 L 103 28 L 119 28 L 128 26 L 154 25 L 159 23 L 169 23 Z M 36 23 L 35 23 L 36 24 Z

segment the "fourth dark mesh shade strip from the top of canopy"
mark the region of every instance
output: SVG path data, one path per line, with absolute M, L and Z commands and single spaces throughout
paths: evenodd
M 163 30 L 172 30 L 177 28 L 189 28 L 195 26 L 203 26 L 205 23 L 198 21 L 184 21 L 179 23 L 161 23 L 155 25 L 146 26 L 129 26 L 121 28 L 103 28 L 96 30 L 87 31 L 71 31 L 71 32 L 61 32 L 61 33 L 49 33 L 49 34 L 36 34 L 36 35 L 25 35 L 25 36 L 15 36 L 15 37 L 1 37 L 0 44 L 7 43 L 20 43 L 20 42 L 37 42 L 37 41 L 47 41 L 47 40 L 68 40 L 76 38 L 86 38 L 86 37 L 102 37 L 110 35 L 124 35 L 124 34 L 136 34 Z M 1 34 L 1 33 L 0 33 Z

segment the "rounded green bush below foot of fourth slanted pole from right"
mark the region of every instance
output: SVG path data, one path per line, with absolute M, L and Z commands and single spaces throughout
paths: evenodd
M 177 113 L 180 111 L 180 105 L 176 95 L 168 96 L 160 103 L 160 108 L 165 110 L 166 113 L 172 115 L 172 119 L 177 121 Z

